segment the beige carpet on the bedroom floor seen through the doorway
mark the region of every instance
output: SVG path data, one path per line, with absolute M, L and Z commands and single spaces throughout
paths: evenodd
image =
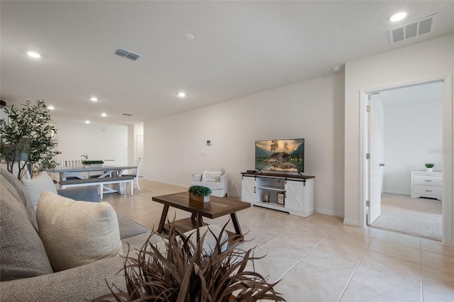
M 441 201 L 385 193 L 382 215 L 370 226 L 441 241 Z

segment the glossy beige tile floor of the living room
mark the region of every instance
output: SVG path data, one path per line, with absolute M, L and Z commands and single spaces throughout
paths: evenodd
M 186 191 L 140 180 L 134 196 L 107 194 L 118 213 L 157 228 L 162 204 L 152 196 Z M 189 217 L 170 209 L 169 218 Z M 229 216 L 207 223 L 223 225 Z M 454 301 L 454 247 L 401 233 L 343 225 L 341 218 L 292 216 L 266 208 L 238 212 L 246 240 L 255 247 L 255 269 L 289 302 L 299 301 Z M 229 230 L 233 225 L 229 223 Z

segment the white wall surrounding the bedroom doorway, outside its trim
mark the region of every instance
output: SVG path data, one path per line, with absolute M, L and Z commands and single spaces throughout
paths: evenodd
M 443 140 L 445 145 L 443 162 L 448 163 L 449 169 L 445 172 L 446 181 L 451 183 L 448 191 L 449 203 L 452 205 L 453 179 L 453 82 L 454 71 L 454 34 L 427 40 L 407 47 L 402 47 L 378 55 L 365 57 L 345 63 L 345 219 L 350 225 L 365 225 L 365 212 L 360 211 L 364 204 L 360 196 L 360 186 L 363 179 L 360 177 L 360 91 L 379 90 L 387 86 L 398 86 L 414 82 L 423 82 L 428 79 L 445 77 L 450 79 L 443 87 L 443 131 L 449 133 Z M 443 88 L 444 89 L 444 88 Z M 362 114 L 362 113 L 361 113 Z M 445 169 L 445 167 L 443 167 Z M 348 181 L 347 181 L 348 180 Z M 445 203 L 445 201 L 443 201 Z M 449 209 L 453 215 L 452 206 Z M 444 215 L 444 214 L 443 214 Z M 443 222 L 444 223 L 444 222 Z M 444 231 L 444 228 L 443 228 Z M 454 233 L 452 223 L 448 226 L 450 234 Z M 443 234 L 443 237 L 445 235 Z M 451 238 L 448 240 L 453 241 Z

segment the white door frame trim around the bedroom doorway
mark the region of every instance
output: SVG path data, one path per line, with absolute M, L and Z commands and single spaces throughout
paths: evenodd
M 443 244 L 454 245 L 453 239 L 453 76 L 447 74 L 430 79 L 421 79 L 400 84 L 376 87 L 373 89 L 360 89 L 360 156 L 359 156 L 359 213 L 360 226 L 365 228 L 366 220 L 366 188 L 367 188 L 367 94 L 375 94 L 380 91 L 389 89 L 404 88 L 419 84 L 428 84 L 433 82 L 443 82 L 443 113 L 442 113 L 442 137 L 443 137 L 443 193 L 442 193 L 442 216 L 443 216 Z

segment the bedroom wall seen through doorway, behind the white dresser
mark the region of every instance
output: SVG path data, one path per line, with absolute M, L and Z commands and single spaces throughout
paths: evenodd
M 411 171 L 424 170 L 426 162 L 441 171 L 441 107 L 441 99 L 384 107 L 385 192 L 410 195 Z

